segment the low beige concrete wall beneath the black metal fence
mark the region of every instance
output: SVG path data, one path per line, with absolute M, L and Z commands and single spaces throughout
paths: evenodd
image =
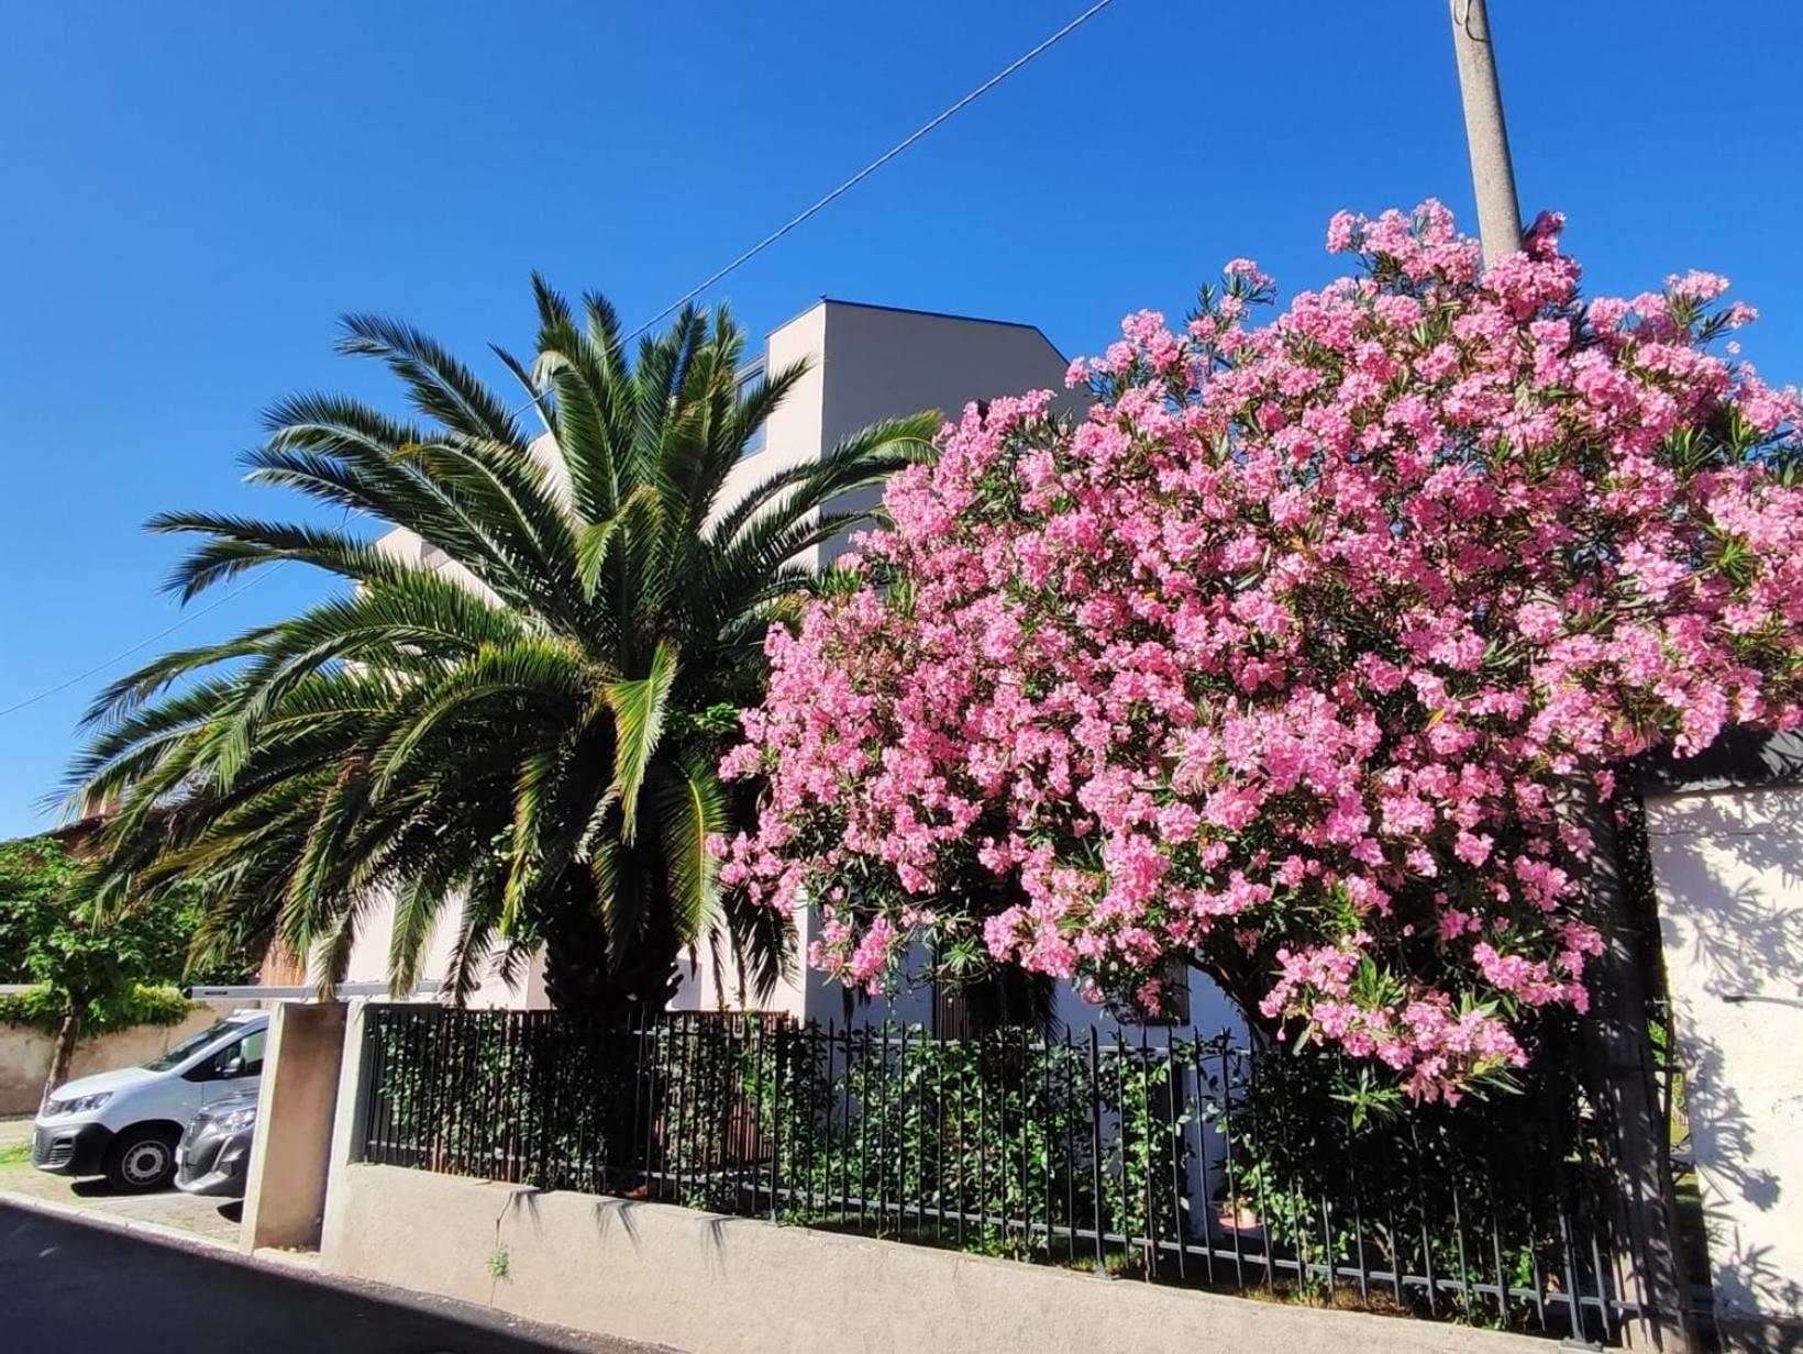
M 398 1166 L 339 1165 L 332 1192 L 328 1273 L 692 1354 L 1554 1349 Z

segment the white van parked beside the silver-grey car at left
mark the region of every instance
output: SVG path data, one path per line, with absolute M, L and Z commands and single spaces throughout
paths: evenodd
M 160 1190 L 195 1112 L 263 1075 L 267 1011 L 234 1011 L 142 1067 L 79 1076 L 38 1112 L 31 1163 L 59 1176 L 105 1176 L 115 1190 Z

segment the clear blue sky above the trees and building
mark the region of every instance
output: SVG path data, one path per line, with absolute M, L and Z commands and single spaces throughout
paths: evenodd
M 386 397 L 332 355 L 341 312 L 525 346 L 535 267 L 645 317 L 1082 7 L 11 5 L 0 707 L 178 618 L 151 512 L 281 512 L 233 460 L 267 402 Z M 1570 216 L 1588 287 L 1725 272 L 1765 316 L 1749 355 L 1803 377 L 1803 13 L 1493 23 L 1524 211 Z M 1475 229 L 1439 0 L 1116 0 L 721 292 L 754 334 L 829 294 L 1098 352 L 1235 254 L 1316 285 L 1334 209 L 1430 195 Z M 283 570 L 153 649 L 317 588 Z M 148 653 L 0 718 L 0 835 L 49 820 L 81 707 Z

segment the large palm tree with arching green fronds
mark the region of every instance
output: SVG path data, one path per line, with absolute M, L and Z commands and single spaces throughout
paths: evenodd
M 921 456 L 932 420 L 874 425 L 725 501 L 804 366 L 741 389 L 723 308 L 683 310 L 627 362 L 606 299 L 577 312 L 534 290 L 534 362 L 496 353 L 535 440 L 436 343 L 353 316 L 341 352 L 386 362 L 415 420 L 296 395 L 247 458 L 251 481 L 339 525 L 151 521 L 204 537 L 169 582 L 182 600 L 276 561 L 353 586 L 99 696 L 74 784 L 114 810 L 105 907 L 198 882 L 202 947 L 276 941 L 319 956 L 330 986 L 391 896 L 397 986 L 458 914 L 454 993 L 485 956 L 514 972 L 543 945 L 552 1001 L 613 1015 L 664 1006 L 698 945 L 730 947 L 759 992 L 790 963 L 784 919 L 716 887 L 707 838 L 748 806 L 714 763 L 766 627 L 810 586 L 797 555 L 862 519 L 833 501 Z

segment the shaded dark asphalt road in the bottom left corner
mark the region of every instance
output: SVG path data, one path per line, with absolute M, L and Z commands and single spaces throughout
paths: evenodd
M 0 1349 L 20 1354 L 654 1354 L 0 1203 Z

